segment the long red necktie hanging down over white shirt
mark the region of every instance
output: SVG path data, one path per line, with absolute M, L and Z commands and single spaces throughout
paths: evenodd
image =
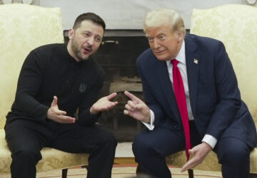
M 185 89 L 183 87 L 183 80 L 181 77 L 181 73 L 178 69 L 178 61 L 176 59 L 171 60 L 173 64 L 172 74 L 173 74 L 173 89 L 175 93 L 176 103 L 178 105 L 178 110 L 181 115 L 181 120 L 183 123 L 183 131 L 186 137 L 186 158 L 187 161 L 189 159 L 188 150 L 191 149 L 190 142 L 190 130 L 189 130 L 189 121 L 188 121 L 188 110 L 186 107 L 186 94 Z

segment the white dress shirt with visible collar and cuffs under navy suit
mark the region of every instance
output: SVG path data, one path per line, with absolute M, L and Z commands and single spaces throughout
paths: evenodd
M 188 109 L 188 119 L 189 120 L 193 120 L 193 113 L 192 113 L 192 110 L 191 110 L 191 104 L 190 104 L 190 98 L 189 98 L 189 90 L 188 90 L 188 78 L 187 78 L 187 73 L 186 73 L 185 41 L 183 41 L 183 43 L 182 43 L 181 50 L 179 51 L 178 56 L 176 56 L 176 60 L 179 62 L 178 63 L 178 68 L 180 70 L 181 77 L 183 79 L 183 86 L 185 88 L 186 106 L 187 106 L 187 109 Z M 173 65 L 171 63 L 171 60 L 170 61 L 166 61 L 166 63 L 167 63 L 169 78 L 171 80 L 171 83 L 173 83 L 173 75 L 172 75 Z M 153 113 L 152 110 L 150 110 L 150 112 L 151 112 L 150 124 L 148 124 L 146 122 L 143 122 L 143 125 L 146 125 L 146 127 L 149 130 L 153 130 L 153 128 L 154 128 L 154 125 L 153 125 L 154 113 Z M 213 148 L 213 147 L 215 147 L 217 140 L 216 140 L 215 137 L 206 134 L 206 135 L 204 135 L 202 142 L 208 143 L 208 145 L 210 145 Z

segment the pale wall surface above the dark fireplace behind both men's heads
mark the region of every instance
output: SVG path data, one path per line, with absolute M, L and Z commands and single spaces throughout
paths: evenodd
M 256 0 L 39 0 L 39 6 L 60 6 L 64 29 L 71 28 L 76 16 L 86 11 L 99 14 L 106 21 L 108 29 L 141 29 L 146 11 L 158 7 L 179 11 L 186 28 L 189 28 L 193 8 L 208 9 L 224 4 L 247 4 L 247 1 L 256 6 Z

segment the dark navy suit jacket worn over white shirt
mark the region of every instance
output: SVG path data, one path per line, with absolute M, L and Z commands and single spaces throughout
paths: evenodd
M 191 109 L 198 132 L 221 137 L 237 137 L 256 146 L 256 127 L 241 100 L 236 75 L 221 41 L 186 35 L 186 70 Z M 156 127 L 181 130 L 166 61 L 159 61 L 151 48 L 137 59 L 146 104 L 155 115 Z

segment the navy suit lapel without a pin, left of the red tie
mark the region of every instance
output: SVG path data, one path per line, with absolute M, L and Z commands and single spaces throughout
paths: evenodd
M 160 83 L 161 90 L 163 91 L 166 98 L 164 100 L 168 100 L 168 104 L 171 106 L 171 110 L 176 118 L 179 118 L 178 107 L 176 104 L 176 98 L 173 93 L 173 88 L 171 84 L 171 80 L 168 76 L 168 69 L 166 65 L 166 61 L 161 61 L 156 66 L 156 75 L 158 77 L 158 81 Z

